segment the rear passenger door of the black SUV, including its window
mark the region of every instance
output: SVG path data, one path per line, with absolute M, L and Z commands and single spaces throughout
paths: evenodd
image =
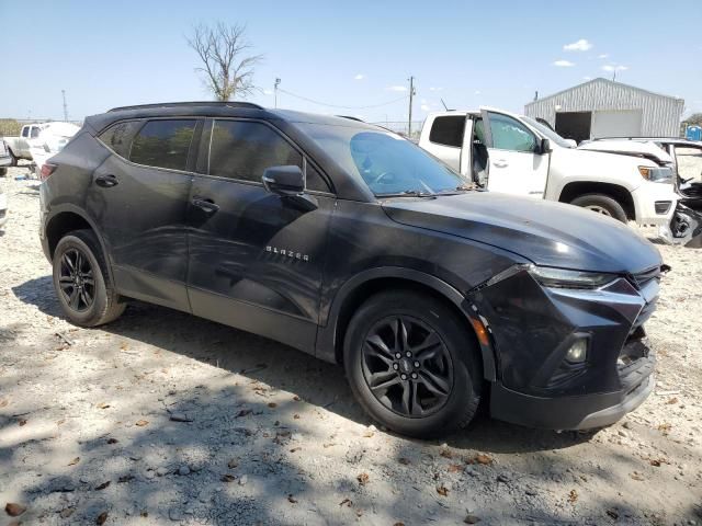
M 196 118 L 111 126 L 99 139 L 113 155 L 93 173 L 87 197 L 120 293 L 186 311 L 185 214 L 201 128 Z

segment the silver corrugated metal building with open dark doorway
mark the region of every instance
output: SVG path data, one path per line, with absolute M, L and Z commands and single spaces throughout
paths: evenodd
M 683 106 L 682 99 L 598 78 L 530 102 L 524 114 L 579 142 L 597 137 L 677 137 Z

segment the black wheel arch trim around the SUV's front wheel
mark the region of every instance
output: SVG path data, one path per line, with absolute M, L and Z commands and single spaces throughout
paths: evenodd
M 360 286 L 380 278 L 400 278 L 430 287 L 456 306 L 465 316 L 469 330 L 473 330 L 472 320 L 476 320 L 477 318 L 473 313 L 469 301 L 456 288 L 435 276 L 420 271 L 400 266 L 382 266 L 355 274 L 339 288 L 331 302 L 327 324 L 317 328 L 315 356 L 327 362 L 337 363 L 337 328 L 343 305 Z M 488 381 L 495 381 L 497 378 L 495 351 L 490 345 L 483 345 L 479 342 L 478 346 L 480 347 L 480 354 L 483 356 L 483 376 Z

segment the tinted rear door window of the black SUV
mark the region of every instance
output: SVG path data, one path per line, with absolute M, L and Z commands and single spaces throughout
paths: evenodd
M 149 121 L 134 138 L 129 160 L 147 167 L 185 170 L 195 119 Z

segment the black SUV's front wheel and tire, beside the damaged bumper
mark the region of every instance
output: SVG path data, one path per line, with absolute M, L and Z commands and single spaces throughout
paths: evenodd
M 386 427 L 432 437 L 465 427 L 480 402 L 474 338 L 442 300 L 409 290 L 361 306 L 344 338 L 351 390 Z

